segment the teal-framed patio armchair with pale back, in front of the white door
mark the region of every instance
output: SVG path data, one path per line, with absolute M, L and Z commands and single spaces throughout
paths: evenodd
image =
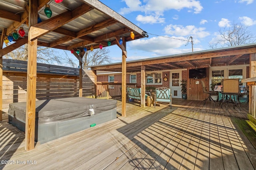
M 171 89 L 166 87 L 156 88 L 156 93 L 154 95 L 154 107 L 156 107 L 156 102 L 169 103 L 172 109 Z

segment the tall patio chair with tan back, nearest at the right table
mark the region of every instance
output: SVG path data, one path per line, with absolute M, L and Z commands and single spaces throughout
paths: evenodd
M 234 108 L 235 106 L 237 106 L 241 110 L 238 102 L 239 94 L 240 94 L 239 78 L 223 79 L 222 99 L 220 100 L 221 108 L 223 104 L 226 104 L 226 109 L 228 107 L 228 104 L 232 104 Z

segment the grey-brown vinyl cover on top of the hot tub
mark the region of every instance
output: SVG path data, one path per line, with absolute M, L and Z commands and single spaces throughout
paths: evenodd
M 116 100 L 93 99 L 93 98 L 60 98 L 36 101 L 36 121 L 38 124 L 53 123 L 90 116 L 90 109 L 94 114 L 116 108 Z M 26 102 L 9 104 L 8 114 L 25 122 Z

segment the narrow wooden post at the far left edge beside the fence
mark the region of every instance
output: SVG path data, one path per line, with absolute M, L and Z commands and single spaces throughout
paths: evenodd
M 6 34 L 6 29 L 2 31 L 2 36 L 0 40 L 0 49 L 3 48 L 4 44 L 4 35 Z M 3 113 L 3 56 L 0 54 L 0 121 L 3 120 L 2 113 Z

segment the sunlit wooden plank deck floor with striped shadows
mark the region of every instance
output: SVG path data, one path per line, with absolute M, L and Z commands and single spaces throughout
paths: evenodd
M 174 100 L 172 109 L 137 103 L 126 108 L 127 116 L 120 117 L 118 102 L 118 119 L 37 144 L 28 152 L 24 133 L 2 121 L 0 160 L 8 164 L 0 169 L 256 169 L 254 143 L 238 126 L 246 119 L 245 105 L 239 111 Z

